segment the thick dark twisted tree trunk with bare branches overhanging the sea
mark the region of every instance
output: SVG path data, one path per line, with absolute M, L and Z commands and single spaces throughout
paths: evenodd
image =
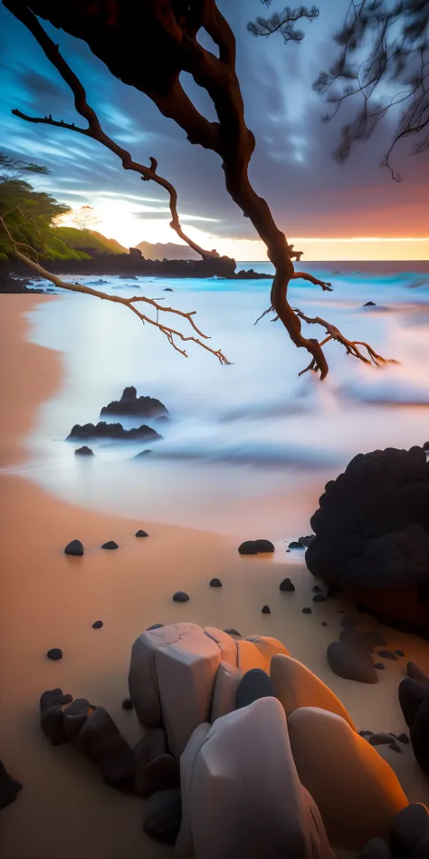
M 295 272 L 292 260 L 300 259 L 302 252 L 288 244 L 266 201 L 256 193 L 249 179 L 248 168 L 255 139 L 244 121 L 243 97 L 235 71 L 234 34 L 215 0 L 93 0 L 91 3 L 82 0 L 62 0 L 61 3 L 56 0 L 31 0 L 29 3 L 4 0 L 4 4 L 33 34 L 60 72 L 73 92 L 76 110 L 88 125 L 78 129 L 52 120 L 52 116 L 28 117 L 14 111 L 17 116 L 100 140 L 119 156 L 125 169 L 137 170 L 142 179 L 151 179 L 167 188 L 175 221 L 176 192 L 158 176 L 156 159 L 150 159 L 150 167 L 137 164 L 129 152 L 107 137 L 88 104 L 81 82 L 62 58 L 59 46 L 43 30 L 36 17 L 39 15 L 86 42 L 113 75 L 144 92 L 164 116 L 185 130 L 191 143 L 219 156 L 226 189 L 242 209 L 243 216 L 252 222 L 275 268 L 271 306 L 267 313 L 272 311 L 275 318 L 281 320 L 292 343 L 310 353 L 310 363 L 305 370 L 319 372 L 320 378 L 325 378 L 329 368 L 323 346 L 329 341 L 341 343 L 348 354 L 361 361 L 384 361 L 367 343 L 348 341 L 334 325 L 319 316 L 304 315 L 289 302 L 289 285 L 297 278 L 304 278 L 323 290 L 331 287 L 312 275 Z M 209 51 L 198 41 L 201 31 L 212 38 L 215 51 Z M 209 121 L 197 110 L 180 81 L 182 72 L 188 72 L 205 90 L 214 105 L 217 121 Z M 287 200 L 287 176 L 284 177 L 284 188 Z M 189 239 L 186 240 L 193 246 Z M 304 336 L 301 320 L 325 329 L 321 342 Z

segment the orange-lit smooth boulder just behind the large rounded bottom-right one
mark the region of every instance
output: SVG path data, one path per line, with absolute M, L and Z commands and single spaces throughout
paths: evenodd
M 337 713 L 342 719 L 346 719 L 351 729 L 355 730 L 347 709 L 343 707 L 337 695 L 302 662 L 292 659 L 291 656 L 278 654 L 272 658 L 270 677 L 275 694 L 281 701 L 288 719 L 291 713 L 300 707 L 319 707 L 331 713 Z

